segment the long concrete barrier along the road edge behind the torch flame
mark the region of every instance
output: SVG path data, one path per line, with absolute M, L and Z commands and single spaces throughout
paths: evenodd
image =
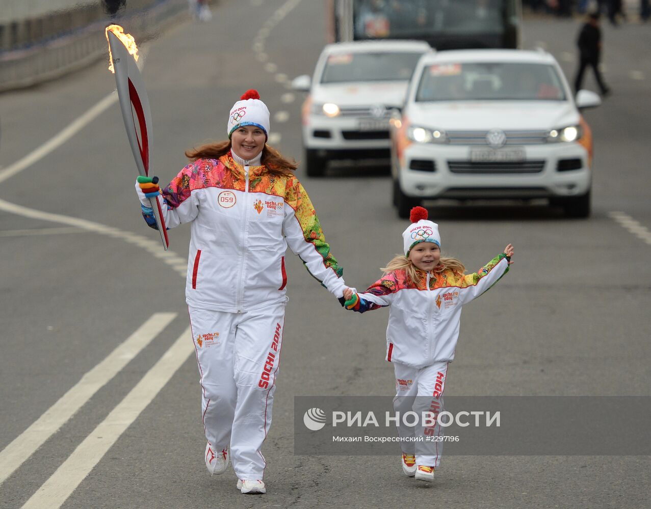
M 141 3 L 145 5 L 146 0 Z M 0 92 L 54 79 L 102 58 L 108 64 L 104 29 L 111 23 L 122 25 L 136 42 L 142 43 L 168 23 L 188 16 L 187 0 L 150 0 L 146 7 L 132 8 L 118 16 L 102 12 L 100 20 L 96 20 L 97 12 L 93 9 L 96 6 L 70 12 L 67 17 L 52 15 L 49 21 L 12 22 L 8 28 L 4 25 L 0 40 L 3 44 L 8 40 L 14 49 L 0 51 Z M 93 16 L 95 20 L 89 23 Z M 51 33 L 57 35 L 48 36 Z M 16 44 L 17 41 L 23 44 Z

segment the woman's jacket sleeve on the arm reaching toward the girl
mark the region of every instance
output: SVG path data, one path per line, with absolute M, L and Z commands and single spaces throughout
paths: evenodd
M 287 180 L 283 233 L 292 252 L 307 270 L 336 297 L 344 293 L 344 270 L 330 252 L 310 197 L 295 177 Z

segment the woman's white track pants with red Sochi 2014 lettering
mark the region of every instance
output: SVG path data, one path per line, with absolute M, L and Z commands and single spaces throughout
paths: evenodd
M 284 303 L 247 313 L 188 307 L 201 375 L 201 411 L 214 450 L 230 445 L 240 479 L 262 479 L 283 346 Z

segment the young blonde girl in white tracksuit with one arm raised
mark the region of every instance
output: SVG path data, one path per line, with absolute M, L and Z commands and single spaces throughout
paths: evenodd
M 383 278 L 365 293 L 344 290 L 346 307 L 364 313 L 391 306 L 387 327 L 387 361 L 396 374 L 393 407 L 408 411 L 443 410 L 447 367 L 454 359 L 461 308 L 477 298 L 508 271 L 511 244 L 478 272 L 464 274 L 455 258 L 441 257 L 438 225 L 427 220 L 422 207 L 411 209 L 411 226 L 402 233 L 404 256 L 397 255 L 382 268 Z M 416 400 L 416 398 L 418 400 Z M 406 426 L 398 421 L 402 443 L 402 470 L 408 476 L 432 482 L 443 441 L 415 441 L 415 437 L 442 437 L 441 426 Z

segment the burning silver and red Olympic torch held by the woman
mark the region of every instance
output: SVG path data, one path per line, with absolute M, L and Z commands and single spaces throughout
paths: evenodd
M 135 159 L 138 173 L 146 177 L 149 175 L 149 147 L 152 140 L 152 116 L 149 111 L 149 99 L 143 79 L 136 65 L 137 47 L 130 34 L 125 34 L 120 25 L 109 25 L 106 28 L 106 38 L 109 40 L 109 70 L 115 73 L 120 110 L 126 135 Z M 148 198 L 150 207 L 154 211 L 156 226 L 161 235 L 163 248 L 167 251 L 169 240 L 167 228 L 158 198 Z

